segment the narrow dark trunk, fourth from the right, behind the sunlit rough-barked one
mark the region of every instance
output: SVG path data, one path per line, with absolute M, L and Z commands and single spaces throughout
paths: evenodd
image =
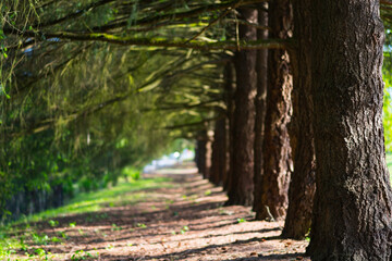
M 267 3 L 262 4 L 267 8 Z M 268 26 L 268 13 L 264 9 L 258 10 L 258 24 Z M 268 30 L 258 29 L 257 39 L 267 39 Z M 257 72 L 257 95 L 255 100 L 256 117 L 255 117 L 255 191 L 254 191 L 254 211 L 260 211 L 261 198 L 261 174 L 262 174 L 262 139 L 266 119 L 266 96 L 267 96 L 267 58 L 268 49 L 257 50 L 256 72 Z

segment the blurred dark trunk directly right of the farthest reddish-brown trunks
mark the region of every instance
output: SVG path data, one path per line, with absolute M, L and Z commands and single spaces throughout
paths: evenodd
M 222 184 L 223 176 L 225 176 L 226 161 L 226 117 L 221 113 L 221 117 L 216 122 L 213 132 L 209 177 L 209 181 L 217 186 Z

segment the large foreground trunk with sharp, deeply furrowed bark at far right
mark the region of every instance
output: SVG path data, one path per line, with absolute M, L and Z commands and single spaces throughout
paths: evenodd
M 379 2 L 313 1 L 317 159 L 313 260 L 390 260 Z

